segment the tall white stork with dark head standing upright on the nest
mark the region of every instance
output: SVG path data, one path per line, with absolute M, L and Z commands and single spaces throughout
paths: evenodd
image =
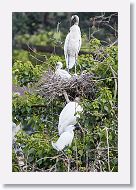
M 69 69 L 75 65 L 75 73 L 76 73 L 76 64 L 78 53 L 81 48 L 81 32 L 78 26 L 79 17 L 77 15 L 73 15 L 71 17 L 70 32 L 67 34 L 65 43 L 64 43 L 64 55 L 66 60 L 66 66 L 69 72 Z

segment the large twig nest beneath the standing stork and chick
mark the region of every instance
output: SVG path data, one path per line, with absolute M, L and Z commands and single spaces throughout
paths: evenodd
M 94 76 L 90 73 L 73 75 L 70 79 L 64 80 L 49 70 L 35 85 L 34 91 L 50 100 L 62 96 L 64 91 L 73 99 L 76 96 L 92 99 L 96 93 L 96 86 Z

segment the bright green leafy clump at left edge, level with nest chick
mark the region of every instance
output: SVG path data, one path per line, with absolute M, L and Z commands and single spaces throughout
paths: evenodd
M 38 81 L 43 73 L 43 67 L 41 65 L 33 66 L 30 61 L 16 61 L 12 71 L 15 84 L 23 86 Z

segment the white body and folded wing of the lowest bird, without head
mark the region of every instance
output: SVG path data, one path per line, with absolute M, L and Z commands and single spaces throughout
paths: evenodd
M 52 142 L 53 148 L 58 151 L 63 150 L 66 146 L 70 146 L 74 138 L 74 133 L 64 132 L 60 135 L 56 143 Z

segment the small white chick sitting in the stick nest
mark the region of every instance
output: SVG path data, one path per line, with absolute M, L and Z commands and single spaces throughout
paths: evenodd
M 64 80 L 70 79 L 71 75 L 67 71 L 62 69 L 62 67 L 63 64 L 61 62 L 57 62 L 55 74 Z

